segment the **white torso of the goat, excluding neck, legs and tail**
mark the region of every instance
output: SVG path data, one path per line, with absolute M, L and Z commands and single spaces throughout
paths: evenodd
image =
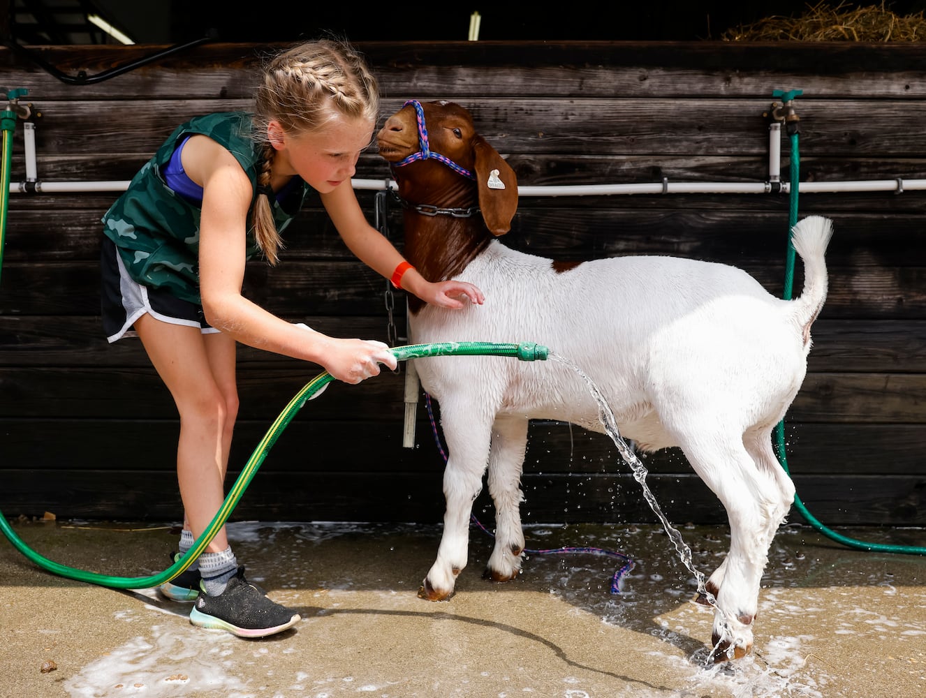
M 414 343 L 544 344 L 594 380 L 621 433 L 644 450 L 680 445 L 688 418 L 706 412 L 733 430 L 775 423 L 804 378 L 808 346 L 792 304 L 737 268 L 627 256 L 557 273 L 496 241 L 457 278 L 482 288 L 484 305 L 426 306 L 411 318 Z M 457 357 L 416 367 L 442 411 L 449 399 L 604 431 L 581 378 L 554 362 Z M 686 405 L 697 405 L 694 415 Z

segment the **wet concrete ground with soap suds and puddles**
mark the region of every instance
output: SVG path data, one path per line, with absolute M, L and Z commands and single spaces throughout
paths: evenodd
M 176 531 L 150 523 L 14 521 L 69 567 L 138 577 L 167 567 Z M 842 530 L 922 546 L 923 530 Z M 926 694 L 926 557 L 870 553 L 782 529 L 760 596 L 756 647 L 705 667 L 712 614 L 655 526 L 527 531 L 518 580 L 482 580 L 492 539 L 470 535 L 447 602 L 417 597 L 440 527 L 232 524 L 248 576 L 296 608 L 295 629 L 242 640 L 190 625 L 189 605 L 44 571 L 0 540 L 4 698 L 147 696 L 891 696 Z M 684 527 L 695 566 L 715 567 L 726 530 Z M 2 536 L 0 536 L 2 538 Z M 546 553 L 587 546 L 601 554 Z M 619 551 L 635 561 L 609 592 Z

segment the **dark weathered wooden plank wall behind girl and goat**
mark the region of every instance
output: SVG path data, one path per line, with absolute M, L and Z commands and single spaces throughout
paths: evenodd
M 803 90 L 803 181 L 926 177 L 926 47 L 723 43 L 358 44 L 383 116 L 407 98 L 468 106 L 521 185 L 766 181 L 772 92 Z M 34 49 L 94 76 L 158 47 Z M 163 47 L 160 47 L 163 48 Z M 40 181 L 128 180 L 181 120 L 248 105 L 272 46 L 206 44 L 106 81 L 69 84 L 0 49 L 6 89 L 29 90 Z M 24 179 L 21 125 L 13 180 Z M 782 139 L 782 178 L 789 144 Z M 357 178 L 389 178 L 375 152 Z M 98 318 L 99 218 L 116 193 L 11 194 L 0 281 L 0 510 L 6 516 L 176 519 L 178 423 L 137 341 L 108 345 Z M 359 192 L 373 216 L 373 196 Z M 805 193 L 830 216 L 831 290 L 809 373 L 786 419 L 798 494 L 824 523 L 926 524 L 926 193 Z M 507 243 L 561 259 L 670 254 L 732 263 L 782 293 L 782 194 L 522 197 Z M 396 243 L 399 218 L 389 217 Z M 386 284 L 344 248 L 310 202 L 282 264 L 253 263 L 262 305 L 336 335 L 388 337 Z M 800 267 L 795 277 L 799 289 Z M 404 336 L 404 299 L 395 320 Z M 603 313 L 621 312 L 619 307 Z M 491 340 L 492 338 L 484 338 Z M 524 341 L 544 343 L 544 337 Z M 401 343 L 401 341 L 400 341 Z M 321 370 L 243 348 L 237 474 L 289 399 Z M 424 402 L 402 446 L 403 375 L 333 384 L 269 453 L 235 518 L 437 522 L 443 459 Z M 435 405 L 435 412 L 439 412 Z M 723 511 L 668 451 L 645 460 L 675 521 Z M 522 510 L 529 522 L 648 522 L 606 437 L 532 426 Z M 490 517 L 485 495 L 475 512 Z M 794 513 L 792 520 L 803 520 Z

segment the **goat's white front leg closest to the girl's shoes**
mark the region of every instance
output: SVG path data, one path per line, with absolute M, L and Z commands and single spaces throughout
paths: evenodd
M 469 517 L 472 503 L 482 491 L 482 475 L 488 463 L 492 418 L 481 418 L 477 410 L 441 405 L 441 423 L 447 443 L 444 467 L 444 533 L 428 575 L 418 595 L 429 601 L 444 601 L 454 592 L 457 575 L 466 567 L 469 547 Z

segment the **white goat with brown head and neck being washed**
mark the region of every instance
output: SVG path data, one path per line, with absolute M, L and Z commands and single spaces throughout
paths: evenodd
M 405 208 L 407 260 L 428 280 L 467 280 L 485 293 L 484 305 L 455 311 L 409 297 L 409 339 L 545 344 L 594 380 L 621 434 L 640 450 L 681 447 L 730 525 L 730 550 L 706 584 L 716 599 L 711 659 L 748 654 L 771 540 L 795 498 L 771 431 L 807 373 L 832 221 L 809 217 L 795 226 L 805 282 L 789 301 L 719 263 L 620 256 L 564 264 L 495 239 L 517 210 L 517 178 L 464 107 L 409 100 L 377 143 Z M 486 576 L 519 574 L 529 420 L 597 432 L 604 425 L 582 380 L 558 363 L 458 356 L 422 358 L 416 368 L 440 405 L 448 453 L 444 531 L 419 590 L 438 601 L 466 567 L 472 503 L 487 468 L 496 533 Z

